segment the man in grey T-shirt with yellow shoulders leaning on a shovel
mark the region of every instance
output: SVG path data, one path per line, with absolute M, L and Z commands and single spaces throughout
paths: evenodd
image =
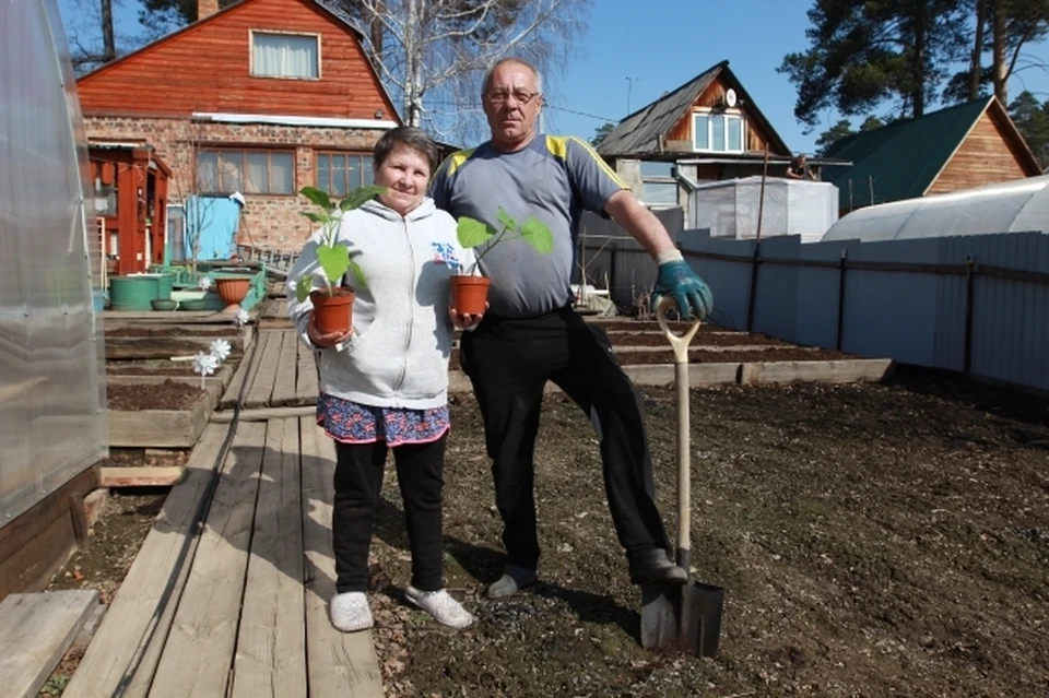
M 553 251 L 540 256 L 522 240 L 485 253 L 490 308 L 462 339 L 460 357 L 473 383 L 492 458 L 496 506 L 503 517 L 507 564 L 488 588 L 498 599 L 535 581 L 535 435 L 543 388 L 554 381 L 594 424 L 601 442 L 605 493 L 634 583 L 682 584 L 653 499 L 652 468 L 640 395 L 612 354 L 608 336 L 571 309 L 569 279 L 582 210 L 610 215 L 659 263 L 652 303 L 671 294 L 685 317 L 706 316 L 710 289 L 674 248 L 659 220 L 582 141 L 535 131 L 543 96 L 529 63 L 504 59 L 485 75 L 481 98 L 492 139 L 460 151 L 431 186 L 437 205 L 453 216 L 498 224 L 499 206 L 519 221 L 550 226 Z

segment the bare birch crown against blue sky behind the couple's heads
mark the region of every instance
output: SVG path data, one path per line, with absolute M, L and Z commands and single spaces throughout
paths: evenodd
M 591 0 L 342 0 L 380 79 L 411 126 L 462 134 L 480 113 L 480 79 L 495 60 L 557 72 L 586 32 Z M 474 118 L 474 122 L 476 119 Z

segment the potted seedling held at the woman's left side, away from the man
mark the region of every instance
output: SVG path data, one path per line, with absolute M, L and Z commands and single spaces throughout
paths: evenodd
M 314 318 L 321 334 L 345 334 L 353 327 L 353 299 L 356 288 L 367 285 L 361 267 L 350 258 L 350 248 L 339 242 L 339 225 L 346 211 L 361 208 L 375 196 L 384 193 L 386 187 L 361 187 L 346 194 L 341 201 L 332 199 L 327 191 L 316 187 L 303 187 L 299 193 L 316 204 L 320 211 L 303 211 L 303 215 L 321 226 L 321 237 L 317 245 L 317 265 L 323 285 L 315 287 L 317 274 L 307 269 L 295 286 L 295 296 L 299 303 L 308 297 L 314 305 Z M 346 285 L 347 273 L 353 274 L 355 286 Z

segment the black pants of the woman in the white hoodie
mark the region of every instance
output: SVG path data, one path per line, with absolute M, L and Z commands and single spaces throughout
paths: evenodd
M 404 520 L 412 552 L 412 587 L 437 591 L 444 587 L 441 566 L 440 490 L 444 485 L 447 434 L 429 443 L 393 447 L 397 478 L 404 502 Z M 335 554 L 335 591 L 366 591 L 368 548 L 375 507 L 382 492 L 385 441 L 335 441 L 335 499 L 331 517 Z

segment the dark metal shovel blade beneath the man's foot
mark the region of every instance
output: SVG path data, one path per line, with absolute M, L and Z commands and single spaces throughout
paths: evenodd
M 689 581 L 684 587 L 641 587 L 641 647 L 714 656 L 721 637 L 724 589 Z

